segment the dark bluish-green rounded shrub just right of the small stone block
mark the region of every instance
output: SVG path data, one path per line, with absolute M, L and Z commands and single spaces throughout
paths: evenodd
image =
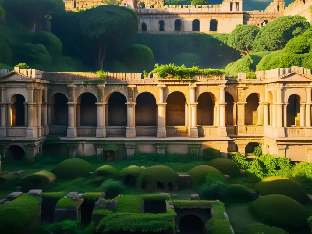
M 197 193 L 201 200 L 223 201 L 227 194 L 227 184 L 220 180 L 212 180 L 199 186 Z

